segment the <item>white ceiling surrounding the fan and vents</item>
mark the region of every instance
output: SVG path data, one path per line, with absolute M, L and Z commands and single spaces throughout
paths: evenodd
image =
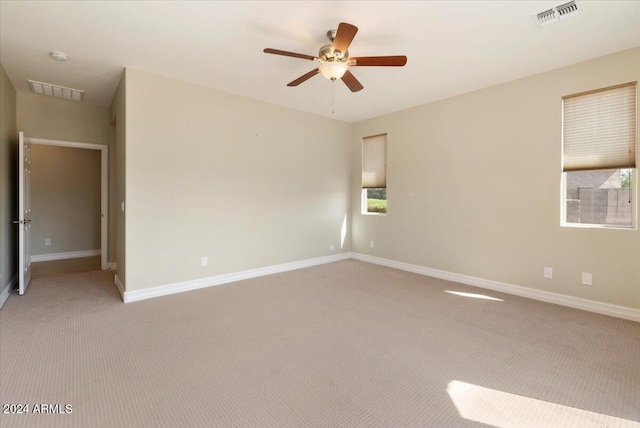
M 579 1 L 576 17 L 537 28 L 560 1 L 70 1 L 0 3 L 0 62 L 18 91 L 34 79 L 109 106 L 124 67 L 354 122 L 640 46 L 640 1 Z M 325 33 L 356 25 L 352 56 L 407 55 L 405 67 L 354 67 L 351 93 L 317 63 Z M 69 62 L 56 62 L 51 51 Z

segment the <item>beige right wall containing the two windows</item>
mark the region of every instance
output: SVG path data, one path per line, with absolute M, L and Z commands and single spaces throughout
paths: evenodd
M 560 227 L 561 97 L 637 80 L 640 48 L 354 124 L 353 250 L 639 308 L 639 232 Z M 389 215 L 361 215 L 361 139 L 385 132 Z

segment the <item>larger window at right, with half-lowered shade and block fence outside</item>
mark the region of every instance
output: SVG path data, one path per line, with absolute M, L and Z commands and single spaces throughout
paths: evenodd
M 563 225 L 634 227 L 636 83 L 563 98 Z

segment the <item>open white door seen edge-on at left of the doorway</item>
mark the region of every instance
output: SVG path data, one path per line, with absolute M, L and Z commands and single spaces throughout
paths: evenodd
M 24 294 L 31 281 L 31 144 L 19 134 L 18 148 L 18 286 Z

